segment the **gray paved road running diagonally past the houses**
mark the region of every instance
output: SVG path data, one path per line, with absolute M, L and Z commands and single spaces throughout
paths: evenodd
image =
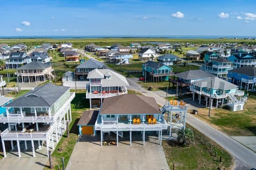
M 83 54 L 85 54 L 83 52 Z M 85 54 L 89 58 L 93 58 L 90 55 Z M 195 65 L 195 63 L 191 63 Z M 141 88 L 133 79 L 127 78 L 130 84 L 128 89 L 141 92 L 145 96 L 154 97 L 159 105 L 165 104 L 165 99 L 159 97 L 151 91 Z M 137 81 L 137 80 L 135 80 Z M 228 135 L 212 128 L 209 124 L 204 123 L 198 118 L 187 114 L 187 123 L 196 128 L 198 131 L 206 135 L 206 137 L 217 142 L 221 147 L 225 148 L 235 157 L 236 168 L 235 169 L 250 169 L 256 167 L 256 154 L 250 149 L 244 147 L 234 139 L 231 139 Z

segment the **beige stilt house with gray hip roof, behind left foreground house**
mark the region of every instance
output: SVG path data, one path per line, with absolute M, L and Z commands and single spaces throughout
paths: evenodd
M 54 78 L 52 66 L 38 62 L 31 62 L 17 69 L 19 82 L 38 82 Z

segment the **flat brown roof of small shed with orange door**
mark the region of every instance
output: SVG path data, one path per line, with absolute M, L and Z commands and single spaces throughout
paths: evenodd
M 96 120 L 97 120 L 97 116 L 98 116 L 99 111 L 85 111 L 79 122 L 77 123 L 77 125 L 94 125 Z

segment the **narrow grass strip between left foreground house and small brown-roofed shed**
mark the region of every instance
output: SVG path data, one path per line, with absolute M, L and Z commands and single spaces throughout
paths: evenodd
M 71 101 L 72 122 L 69 124 L 69 138 L 67 138 L 67 132 L 65 132 L 52 153 L 52 161 L 55 169 L 58 169 L 58 165 L 62 168 L 62 157 L 65 159 L 65 166 L 68 164 L 69 158 L 76 145 L 78 139 L 77 123 L 82 113 L 90 108 L 89 100 L 85 99 L 85 94 L 86 90 L 77 90 L 76 97 Z M 58 151 L 58 149 L 62 149 L 62 151 Z M 48 165 L 50 164 L 48 163 Z

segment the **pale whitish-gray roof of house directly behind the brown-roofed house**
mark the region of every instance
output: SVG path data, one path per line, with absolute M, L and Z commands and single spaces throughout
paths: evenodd
M 111 75 L 110 79 L 105 79 L 105 75 Z M 109 69 L 94 69 L 89 72 L 87 79 L 102 79 L 102 87 L 129 86 L 126 78 Z

